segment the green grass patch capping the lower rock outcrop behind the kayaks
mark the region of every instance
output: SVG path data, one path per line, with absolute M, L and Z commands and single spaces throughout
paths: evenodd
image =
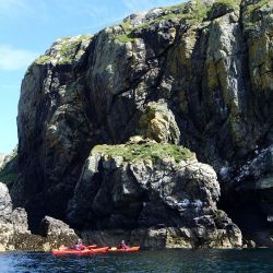
M 173 157 L 177 163 L 183 159 L 193 158 L 194 154 L 188 149 L 175 144 L 143 143 L 143 144 L 120 144 L 120 145 L 96 145 L 92 154 L 100 153 L 111 157 L 121 156 L 126 162 L 136 162 L 141 159 L 159 159 Z

